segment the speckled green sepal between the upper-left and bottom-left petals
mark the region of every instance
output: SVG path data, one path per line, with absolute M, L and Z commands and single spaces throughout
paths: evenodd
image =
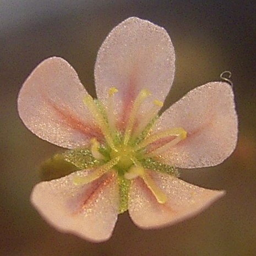
M 62 153 L 64 160 L 77 166 L 80 170 L 102 164 L 101 160 L 95 159 L 89 149 L 70 149 Z

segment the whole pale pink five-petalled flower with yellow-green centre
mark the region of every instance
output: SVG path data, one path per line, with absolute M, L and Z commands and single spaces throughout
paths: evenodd
M 62 58 L 48 58 L 30 74 L 19 92 L 20 118 L 41 139 L 68 148 L 61 156 L 75 167 L 34 187 L 31 202 L 47 222 L 101 242 L 127 209 L 136 225 L 155 228 L 187 219 L 225 194 L 182 181 L 176 167 L 215 166 L 235 149 L 232 88 L 207 83 L 159 116 L 174 72 L 165 29 L 129 18 L 97 55 L 97 100 Z

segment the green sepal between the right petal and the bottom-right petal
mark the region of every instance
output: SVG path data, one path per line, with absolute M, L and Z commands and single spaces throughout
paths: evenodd
M 140 163 L 144 168 L 150 169 L 152 171 L 164 172 L 167 173 L 168 175 L 179 177 L 179 172 L 176 167 L 166 165 L 152 158 L 142 159 L 140 160 Z

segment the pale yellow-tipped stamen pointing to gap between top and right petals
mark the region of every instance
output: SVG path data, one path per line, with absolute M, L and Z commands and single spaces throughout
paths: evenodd
M 147 126 L 147 124 L 150 123 L 152 119 L 154 119 L 159 112 L 160 108 L 164 105 L 162 101 L 154 100 L 153 106 L 148 111 L 148 113 L 145 114 L 145 116 L 141 119 L 138 126 L 134 130 L 134 137 L 137 137 L 141 132 L 143 132 L 143 129 Z

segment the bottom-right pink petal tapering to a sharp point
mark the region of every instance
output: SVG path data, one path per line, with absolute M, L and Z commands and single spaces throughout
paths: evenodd
M 132 182 L 129 198 L 129 214 L 141 228 L 173 225 L 203 211 L 224 191 L 200 188 L 164 173 L 150 172 L 152 179 L 167 195 L 165 204 L 157 203 L 154 195 L 142 179 Z

